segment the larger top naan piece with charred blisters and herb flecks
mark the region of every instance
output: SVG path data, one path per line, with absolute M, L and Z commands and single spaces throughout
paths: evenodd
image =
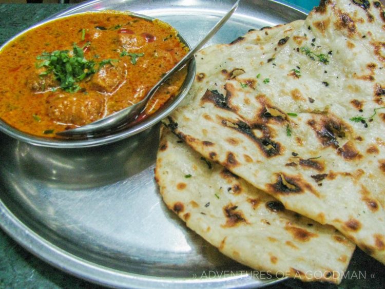
M 292 35 L 238 67 L 245 73 L 234 79 L 206 73 L 207 60 L 223 57 L 203 51 L 197 71 L 204 77 L 165 121 L 208 160 L 286 209 L 333 225 L 382 263 L 384 15 L 379 2 L 323 0 Z M 261 38 L 268 32 L 255 31 Z M 228 50 L 248 44 L 235 45 Z

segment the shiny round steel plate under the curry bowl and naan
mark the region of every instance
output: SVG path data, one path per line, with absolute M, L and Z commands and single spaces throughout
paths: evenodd
M 194 46 L 231 1 L 92 1 L 55 16 L 130 10 L 168 22 Z M 210 41 L 304 18 L 278 1 L 242 1 Z M 277 279 L 221 255 L 162 203 L 153 168 L 159 125 L 100 147 L 33 146 L 0 134 L 0 225 L 30 252 L 117 287 L 258 287 Z

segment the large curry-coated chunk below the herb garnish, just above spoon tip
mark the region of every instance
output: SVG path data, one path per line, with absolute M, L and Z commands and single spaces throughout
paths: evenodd
M 85 125 L 100 119 L 104 112 L 102 95 L 52 94 L 46 105 L 53 121 L 69 125 Z

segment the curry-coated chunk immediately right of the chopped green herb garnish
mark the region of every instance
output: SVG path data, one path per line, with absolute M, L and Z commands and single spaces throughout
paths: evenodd
M 127 71 L 119 64 L 106 64 L 92 76 L 91 88 L 104 94 L 111 94 L 125 81 Z

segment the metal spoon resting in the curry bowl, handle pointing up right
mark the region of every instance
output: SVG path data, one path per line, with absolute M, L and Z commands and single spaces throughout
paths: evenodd
M 192 57 L 194 57 L 195 53 L 202 48 L 202 46 L 211 38 L 214 36 L 215 33 L 222 27 L 223 24 L 230 18 L 230 16 L 234 13 L 234 11 L 237 9 L 238 0 L 222 18 L 221 20 L 208 32 L 208 34 L 202 39 L 200 43 L 195 46 L 194 49 L 191 49 L 184 57 L 175 65 L 172 69 L 170 69 L 164 76 L 163 78 L 155 85 L 153 86 L 146 96 L 144 97 L 143 100 L 140 102 L 131 105 L 129 107 L 126 107 L 120 111 L 114 112 L 107 117 L 91 122 L 89 124 L 86 124 L 81 127 L 73 128 L 73 129 L 68 129 L 65 131 L 61 132 L 56 132 L 59 136 L 64 136 L 64 137 L 75 137 L 75 136 L 84 136 L 85 134 L 95 134 L 95 133 L 100 133 L 103 131 L 106 131 L 108 129 L 112 129 L 114 127 L 117 127 L 124 122 L 134 120 L 134 117 L 137 117 L 145 108 L 147 102 L 152 98 L 153 94 L 157 92 L 159 87 L 167 81 L 172 74 L 174 74 L 176 71 L 181 70 L 185 64 L 187 64 Z

